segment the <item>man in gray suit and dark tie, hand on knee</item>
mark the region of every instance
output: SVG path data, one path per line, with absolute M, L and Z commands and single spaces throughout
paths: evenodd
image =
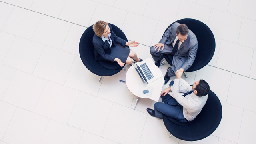
M 182 68 L 185 72 L 190 68 L 196 58 L 197 48 L 196 35 L 188 29 L 186 24 L 175 22 L 168 28 L 159 43 L 150 48 L 158 67 L 164 57 L 162 54 L 171 54 L 173 57 L 172 67 L 167 69 L 164 76 L 164 84 L 170 80 L 171 76 L 175 76 L 178 69 Z

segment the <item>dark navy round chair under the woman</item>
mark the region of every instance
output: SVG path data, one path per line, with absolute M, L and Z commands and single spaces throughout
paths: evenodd
M 84 63 L 84 66 L 86 66 L 86 68 L 90 70 L 92 73 L 98 76 L 112 76 L 120 72 L 120 70 L 122 70 L 123 67 L 121 67 L 117 62 L 95 60 L 94 46 L 92 43 L 94 31 L 92 29 L 92 26 L 90 26 L 84 31 L 80 39 L 80 42 L 79 42 L 80 58 Z M 122 32 L 120 28 L 118 28 L 114 24 L 111 24 L 111 26 L 116 36 L 122 38 L 123 40 L 128 41 L 124 32 Z M 129 48 L 129 46 L 127 47 Z

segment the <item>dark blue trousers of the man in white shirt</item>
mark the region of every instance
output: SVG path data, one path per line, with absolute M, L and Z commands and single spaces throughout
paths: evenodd
M 172 98 L 172 96 L 170 96 L 169 94 L 166 94 L 164 96 L 164 99 L 165 99 L 164 103 L 157 102 L 154 104 L 154 109 L 155 109 L 157 118 L 163 119 L 163 114 L 165 114 L 166 116 L 174 118 L 179 122 L 182 122 L 182 123 L 188 122 L 184 118 L 183 107 L 175 100 L 175 98 Z

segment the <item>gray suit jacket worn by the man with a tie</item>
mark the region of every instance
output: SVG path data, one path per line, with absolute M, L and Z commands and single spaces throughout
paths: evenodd
M 164 33 L 164 36 L 159 42 L 162 44 L 171 44 L 175 40 L 176 30 L 179 25 L 180 24 L 177 22 L 172 24 L 172 26 L 168 28 L 168 30 Z M 190 66 L 192 66 L 194 60 L 196 59 L 197 48 L 198 42 L 196 39 L 196 35 L 191 32 L 191 30 L 189 30 L 188 38 L 184 42 L 182 42 L 180 48 L 177 51 L 180 60 L 184 62 L 184 64 L 182 65 L 182 68 L 184 68 L 184 72 L 188 70 Z

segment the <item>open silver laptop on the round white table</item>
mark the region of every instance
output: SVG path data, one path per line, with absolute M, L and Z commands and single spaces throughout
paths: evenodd
M 148 84 L 161 77 L 162 73 L 160 74 L 158 72 L 158 68 L 155 66 L 151 58 L 147 58 L 142 62 L 132 63 L 132 65 L 144 83 Z

